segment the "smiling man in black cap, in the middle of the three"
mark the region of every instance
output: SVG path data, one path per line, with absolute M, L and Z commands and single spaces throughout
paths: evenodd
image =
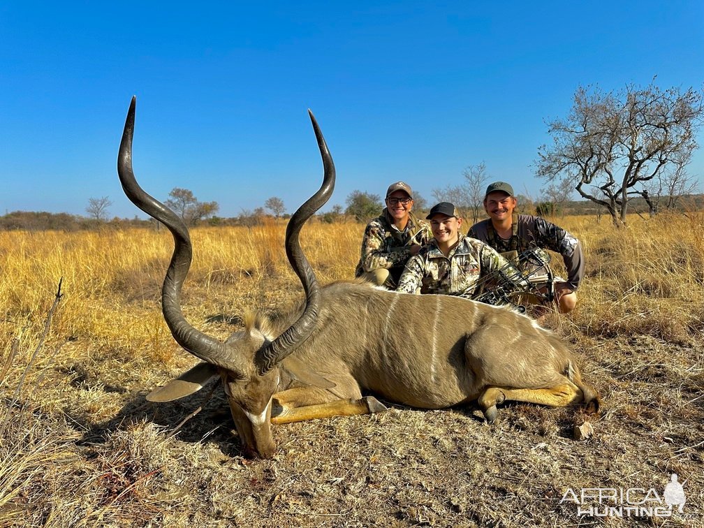
M 481 293 L 482 279 L 496 272 L 502 282 L 527 285 L 494 249 L 460 234 L 462 218 L 452 203 L 438 203 L 427 219 L 433 239 L 408 260 L 396 291 L 473 298 Z

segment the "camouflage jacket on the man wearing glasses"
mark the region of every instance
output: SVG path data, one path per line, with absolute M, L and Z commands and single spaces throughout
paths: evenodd
M 410 258 L 410 246 L 412 244 L 422 246 L 433 237 L 428 222 L 418 220 L 413 213 L 409 215 L 408 224 L 403 231 L 398 230 L 394 225 L 386 208 L 379 218 L 367 224 L 355 277 L 359 277 L 363 272 L 384 268 L 391 272 L 395 281 L 398 281 L 403 267 Z

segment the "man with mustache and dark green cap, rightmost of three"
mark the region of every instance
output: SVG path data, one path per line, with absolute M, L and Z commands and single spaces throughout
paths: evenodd
M 486 242 L 499 253 L 513 253 L 513 256 L 534 248 L 560 253 L 567 280 L 555 280 L 555 301 L 560 313 L 571 312 L 577 304 L 577 288 L 584 278 L 582 244 L 544 218 L 515 213 L 516 206 L 513 187 L 506 182 L 490 184 L 484 195 L 484 210 L 489 218 L 470 227 L 468 235 Z

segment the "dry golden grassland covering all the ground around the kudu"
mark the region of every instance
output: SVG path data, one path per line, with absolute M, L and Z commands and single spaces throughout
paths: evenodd
M 546 324 L 603 394 L 593 439 L 571 439 L 574 409 L 510 405 L 488 427 L 474 408 L 394 406 L 276 427 L 279 453 L 266 461 L 241 458 L 220 389 L 180 428 L 205 395 L 144 401 L 195 363 L 161 317 L 167 230 L 0 232 L 0 526 L 659 525 L 580 519 L 560 498 L 567 488 L 662 491 L 673 471 L 688 502 L 667 525 L 700 523 L 703 215 L 636 216 L 620 230 L 556 221 L 582 241 L 586 279 L 577 310 Z M 187 318 L 225 338 L 245 310 L 298 300 L 284 230 L 194 229 Z M 362 232 L 304 228 L 320 282 L 353 275 Z

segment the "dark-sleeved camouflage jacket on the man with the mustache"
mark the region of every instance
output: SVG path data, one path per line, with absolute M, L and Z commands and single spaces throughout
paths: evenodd
M 508 240 L 498 236 L 489 218 L 472 225 L 467 235 L 486 242 L 500 253 L 514 250 L 522 253 L 536 247 L 555 251 L 565 262 L 570 288 L 577 289 L 584 278 L 582 244 L 562 227 L 539 216 L 514 215 L 513 234 Z

